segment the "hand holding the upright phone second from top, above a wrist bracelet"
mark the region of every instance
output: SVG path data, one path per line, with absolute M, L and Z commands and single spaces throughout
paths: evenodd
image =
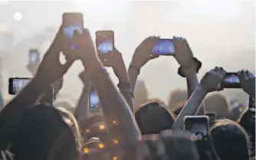
M 123 56 L 117 48 L 114 48 L 112 54 L 104 54 L 107 57 L 107 61 L 104 61 L 104 66 L 112 67 L 113 72 L 116 74 L 120 81 L 129 81 L 126 66 L 123 61 Z

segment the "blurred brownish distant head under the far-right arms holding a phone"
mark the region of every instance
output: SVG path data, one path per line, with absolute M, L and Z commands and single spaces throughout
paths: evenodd
M 213 93 L 205 98 L 205 112 L 216 113 L 217 118 L 228 118 L 231 115 L 231 109 L 227 98 L 221 93 Z

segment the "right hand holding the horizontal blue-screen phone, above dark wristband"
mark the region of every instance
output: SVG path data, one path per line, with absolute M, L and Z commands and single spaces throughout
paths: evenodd
M 173 37 L 175 58 L 181 67 L 193 67 L 193 54 L 188 42 L 184 38 Z

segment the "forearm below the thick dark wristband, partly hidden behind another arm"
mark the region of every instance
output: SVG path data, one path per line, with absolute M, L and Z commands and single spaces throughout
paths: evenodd
M 189 97 L 194 92 L 195 88 L 199 85 L 199 80 L 196 76 L 196 71 L 193 68 L 189 70 L 185 70 L 185 77 L 187 81 L 188 99 L 189 99 Z M 197 115 L 204 115 L 204 114 L 205 114 L 205 104 L 202 103 Z

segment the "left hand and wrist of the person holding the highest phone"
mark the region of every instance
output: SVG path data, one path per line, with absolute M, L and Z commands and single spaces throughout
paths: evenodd
M 40 80 L 45 85 L 61 79 L 74 62 L 74 60 L 69 60 L 68 58 L 65 64 L 61 64 L 60 62 L 60 53 L 63 49 L 62 32 L 61 26 L 47 53 L 44 54 L 43 60 L 34 77 L 34 79 Z

